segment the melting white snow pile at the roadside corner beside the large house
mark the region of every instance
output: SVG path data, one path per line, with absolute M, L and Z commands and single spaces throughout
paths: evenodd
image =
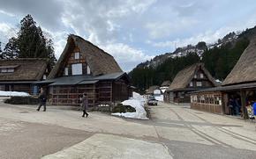
M 136 112 L 116 112 L 116 113 L 111 113 L 112 115 L 119 116 L 119 117 L 124 117 L 124 118 L 132 118 L 132 119 L 148 119 L 147 118 L 147 112 L 144 109 L 144 103 L 145 103 L 145 98 L 140 96 L 138 93 L 133 92 L 132 93 L 133 97 L 124 100 L 122 102 L 123 105 L 130 105 L 132 106 Z

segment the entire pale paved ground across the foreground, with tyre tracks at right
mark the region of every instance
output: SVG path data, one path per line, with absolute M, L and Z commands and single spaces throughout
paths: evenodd
M 255 123 L 160 104 L 152 120 L 0 103 L 4 158 L 255 158 Z M 2 157 L 3 158 L 3 157 Z

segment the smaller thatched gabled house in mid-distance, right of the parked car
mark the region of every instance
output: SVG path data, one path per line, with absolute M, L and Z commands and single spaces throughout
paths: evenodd
M 217 83 L 203 63 L 196 63 L 177 73 L 164 95 L 165 102 L 190 103 L 189 92 L 215 87 Z

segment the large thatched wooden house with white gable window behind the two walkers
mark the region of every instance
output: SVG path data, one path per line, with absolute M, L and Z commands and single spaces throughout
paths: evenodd
M 85 92 L 92 107 L 115 105 L 129 98 L 129 83 L 113 56 L 70 35 L 47 81 L 37 84 L 48 87 L 52 105 L 79 105 L 79 97 Z

